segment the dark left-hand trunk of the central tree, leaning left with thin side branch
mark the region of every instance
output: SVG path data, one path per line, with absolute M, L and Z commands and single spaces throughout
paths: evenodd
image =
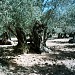
M 18 39 L 18 44 L 16 47 L 14 47 L 14 53 L 23 53 L 28 52 L 28 45 L 26 43 L 26 35 L 23 32 L 23 29 L 21 27 L 15 27 L 16 33 L 11 29 L 8 28 Z

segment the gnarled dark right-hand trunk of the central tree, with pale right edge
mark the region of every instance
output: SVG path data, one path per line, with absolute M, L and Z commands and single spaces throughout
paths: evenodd
M 41 33 L 43 33 L 43 39 Z M 32 36 L 34 42 L 34 51 L 36 53 L 41 53 L 43 46 L 46 46 L 47 27 L 45 27 L 43 24 L 35 23 L 33 26 Z

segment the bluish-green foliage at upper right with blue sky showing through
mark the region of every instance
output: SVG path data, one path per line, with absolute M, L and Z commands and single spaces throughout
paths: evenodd
M 55 27 L 69 30 L 72 28 L 71 26 L 75 26 L 74 0 L 47 0 L 44 7 L 47 7 L 48 11 L 44 14 L 43 22 L 47 23 L 49 30 Z M 68 26 L 70 27 L 69 29 Z

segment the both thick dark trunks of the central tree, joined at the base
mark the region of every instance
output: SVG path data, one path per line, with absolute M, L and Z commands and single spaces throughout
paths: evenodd
M 44 28 L 43 24 L 35 23 L 35 25 L 33 26 L 32 38 L 30 38 L 30 41 L 29 41 L 30 44 L 27 44 L 26 35 L 20 27 L 15 27 L 16 34 L 14 33 L 14 31 L 11 28 L 9 28 L 9 29 L 18 39 L 18 44 L 17 44 L 14 52 L 22 53 L 23 49 L 28 47 L 29 52 L 41 53 L 41 50 L 40 50 L 40 44 L 41 44 L 41 38 L 42 38 L 41 32 L 44 32 L 43 44 L 45 45 L 45 43 L 46 43 L 46 30 L 47 30 L 47 28 Z

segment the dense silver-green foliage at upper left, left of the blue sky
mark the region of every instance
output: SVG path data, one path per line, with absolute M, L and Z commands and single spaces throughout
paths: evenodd
M 40 0 L 2 0 L 0 1 L 0 28 L 6 31 L 10 25 L 21 26 L 25 31 L 33 25 L 32 21 L 42 15 Z M 1 30 L 2 32 L 4 32 Z

